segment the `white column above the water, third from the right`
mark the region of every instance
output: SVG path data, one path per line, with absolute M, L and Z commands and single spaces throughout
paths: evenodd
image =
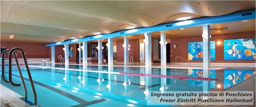
M 152 65 L 152 41 L 151 33 L 144 33 L 145 36 L 145 67 L 150 67 Z

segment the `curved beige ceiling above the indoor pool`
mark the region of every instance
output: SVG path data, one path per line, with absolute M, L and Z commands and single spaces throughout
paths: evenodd
M 1 1 L 1 39 L 52 42 L 255 8 L 255 1 Z

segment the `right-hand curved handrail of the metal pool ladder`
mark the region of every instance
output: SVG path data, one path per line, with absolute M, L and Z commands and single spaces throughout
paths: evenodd
M 16 61 L 16 65 L 17 65 L 18 71 L 19 71 L 20 79 L 22 80 L 22 83 L 23 83 L 23 87 L 24 87 L 24 91 L 25 91 L 25 101 L 27 101 L 27 88 L 26 88 L 26 84 L 24 82 L 22 71 L 19 68 L 19 64 L 18 64 L 18 60 L 17 60 L 17 55 L 16 55 L 15 51 L 19 51 L 20 53 L 22 53 L 22 56 L 23 56 L 23 59 L 24 59 L 24 63 L 25 63 L 26 69 L 27 69 L 27 73 L 28 73 L 28 76 L 29 76 L 29 81 L 30 81 L 30 84 L 31 84 L 31 87 L 32 87 L 32 91 L 33 91 L 33 94 L 34 94 L 34 104 L 37 105 L 37 96 L 36 96 L 35 86 L 34 86 L 34 83 L 33 83 L 32 76 L 30 74 L 30 70 L 29 70 L 26 54 L 25 54 L 25 52 L 22 49 L 13 48 L 9 52 L 9 82 L 10 82 L 11 85 L 13 85 L 15 87 L 20 86 L 20 84 L 16 84 L 16 83 L 12 82 L 12 54 L 13 54 L 13 56 L 15 58 L 15 61 Z

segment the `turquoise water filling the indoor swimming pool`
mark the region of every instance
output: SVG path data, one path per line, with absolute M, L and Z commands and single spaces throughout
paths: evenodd
M 130 68 L 106 66 L 70 65 L 69 69 L 103 71 L 112 73 L 83 72 L 59 70 L 32 65 L 31 75 L 34 80 L 37 103 L 40 106 L 151 106 L 146 105 L 148 91 L 223 91 L 232 85 L 255 74 L 254 70 L 200 70 L 200 69 L 163 69 L 163 68 Z M 38 66 L 38 67 L 34 67 Z M 47 66 L 65 68 L 62 65 Z M 21 83 L 17 69 L 13 66 L 13 81 Z M 22 66 L 25 83 L 28 89 L 28 100 L 33 101 L 27 71 Z M 8 71 L 6 71 L 8 72 Z M 136 74 L 173 75 L 186 77 L 205 77 L 217 80 L 195 80 L 181 78 L 163 78 L 139 75 L 120 75 L 118 72 Z M 236 83 L 229 75 L 240 76 Z M 6 73 L 8 79 L 8 74 Z M 232 84 L 233 83 L 233 84 Z M 1 84 L 24 96 L 23 87 L 12 87 L 1 80 Z M 156 105 L 152 105 L 156 106 Z M 170 106 L 170 105 L 159 105 Z M 173 106 L 173 105 L 172 105 Z

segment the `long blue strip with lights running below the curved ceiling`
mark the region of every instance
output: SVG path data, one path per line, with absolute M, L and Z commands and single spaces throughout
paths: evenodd
M 230 13 L 230 14 L 221 15 L 221 16 L 190 19 L 190 20 L 185 20 L 181 22 L 156 25 L 152 27 L 144 27 L 144 28 L 138 28 L 138 29 L 118 31 L 118 32 L 109 33 L 109 34 L 100 34 L 100 35 L 88 36 L 88 37 L 77 38 L 72 40 L 53 42 L 53 43 L 47 44 L 46 46 L 51 47 L 51 46 L 59 46 L 64 44 L 74 44 L 76 42 L 82 42 L 82 41 L 91 41 L 91 40 L 106 39 L 106 38 L 120 37 L 120 36 L 127 36 L 127 35 L 159 32 L 159 31 L 174 30 L 174 29 L 180 29 L 180 28 L 189 28 L 189 27 L 203 26 L 208 24 L 236 22 L 236 21 L 242 21 L 242 20 L 248 20 L 248 19 L 255 19 L 255 10 Z

